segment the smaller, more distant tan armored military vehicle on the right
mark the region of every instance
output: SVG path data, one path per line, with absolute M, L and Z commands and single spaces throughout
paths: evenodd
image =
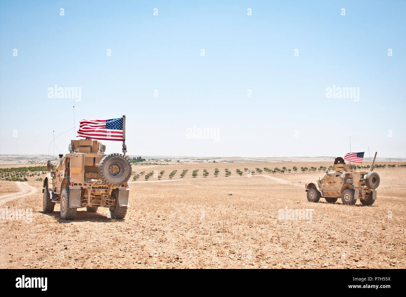
M 363 205 L 372 205 L 380 183 L 378 173 L 372 172 L 374 162 L 371 172 L 365 172 L 356 171 L 355 165 L 346 164 L 341 157 L 335 158 L 335 171 L 326 170 L 322 179 L 306 184 L 307 200 L 318 202 L 324 197 L 328 203 L 335 203 L 341 197 L 344 204 L 352 205 L 359 200 Z

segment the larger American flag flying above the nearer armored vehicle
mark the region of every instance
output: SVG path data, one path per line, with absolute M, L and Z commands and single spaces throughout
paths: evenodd
M 111 120 L 81 120 L 78 136 L 123 141 L 123 118 Z

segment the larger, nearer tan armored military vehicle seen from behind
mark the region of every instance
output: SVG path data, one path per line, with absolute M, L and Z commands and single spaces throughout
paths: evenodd
M 60 203 L 60 216 L 72 220 L 76 210 L 86 207 L 96 212 L 108 207 L 112 218 L 122 219 L 128 207 L 128 179 L 131 164 L 122 154 L 105 155 L 106 146 L 97 140 L 72 140 L 69 154 L 59 155 L 59 164 L 45 177 L 43 185 L 43 211 L 53 212 Z

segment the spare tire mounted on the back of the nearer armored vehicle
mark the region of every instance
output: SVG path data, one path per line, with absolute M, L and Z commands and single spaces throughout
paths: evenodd
M 131 164 L 121 154 L 110 154 L 99 162 L 100 179 L 110 186 L 121 186 L 131 177 Z

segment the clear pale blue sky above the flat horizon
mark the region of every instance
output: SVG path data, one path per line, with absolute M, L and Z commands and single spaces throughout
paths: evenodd
M 343 156 L 351 136 L 353 152 L 406 157 L 405 11 L 405 1 L 3 1 L 0 154 L 48 154 L 75 105 L 77 128 L 125 114 L 128 151 L 141 156 Z M 81 101 L 48 98 L 54 85 L 80 87 Z M 326 98 L 333 85 L 359 88 L 359 101 Z M 219 141 L 188 139 L 194 125 Z M 56 139 L 63 153 L 72 137 Z

